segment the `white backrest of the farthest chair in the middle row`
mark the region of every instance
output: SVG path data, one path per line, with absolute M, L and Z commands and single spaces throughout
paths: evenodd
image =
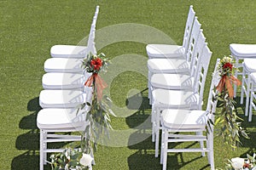
M 189 39 L 191 36 L 191 30 L 192 30 L 194 19 L 195 19 L 195 11 L 193 9 L 193 6 L 191 5 L 189 7 L 188 19 L 186 22 L 185 32 L 184 32 L 184 36 L 183 36 L 183 48 L 185 49 L 185 53 L 187 53 L 187 51 L 188 51 Z

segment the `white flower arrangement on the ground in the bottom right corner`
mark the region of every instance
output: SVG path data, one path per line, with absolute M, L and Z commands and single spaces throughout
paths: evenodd
M 253 156 L 247 154 L 247 158 L 235 157 L 228 160 L 226 169 L 228 170 L 256 170 L 256 154 Z

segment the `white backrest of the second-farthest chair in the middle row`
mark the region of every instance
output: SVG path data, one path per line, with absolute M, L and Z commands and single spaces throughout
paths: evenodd
M 199 37 L 199 34 L 201 33 L 201 24 L 197 20 L 197 17 L 195 17 L 193 29 L 191 32 L 191 37 L 189 39 L 189 48 L 188 53 L 186 54 L 187 61 L 191 64 L 191 61 L 193 60 L 193 57 L 195 56 L 195 48 L 197 45 L 197 40 Z

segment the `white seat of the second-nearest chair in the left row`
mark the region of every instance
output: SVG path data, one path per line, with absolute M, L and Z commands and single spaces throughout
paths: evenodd
M 39 105 L 42 108 L 71 108 L 84 103 L 84 92 L 79 90 L 42 90 Z

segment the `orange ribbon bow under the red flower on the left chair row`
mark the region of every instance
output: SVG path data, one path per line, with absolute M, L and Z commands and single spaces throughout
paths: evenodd
M 84 86 L 90 87 L 94 81 L 96 86 L 97 99 L 101 100 L 102 91 L 104 88 L 108 87 L 108 84 L 102 80 L 102 77 L 100 77 L 100 75 L 98 75 L 97 73 L 93 73 L 84 83 Z

